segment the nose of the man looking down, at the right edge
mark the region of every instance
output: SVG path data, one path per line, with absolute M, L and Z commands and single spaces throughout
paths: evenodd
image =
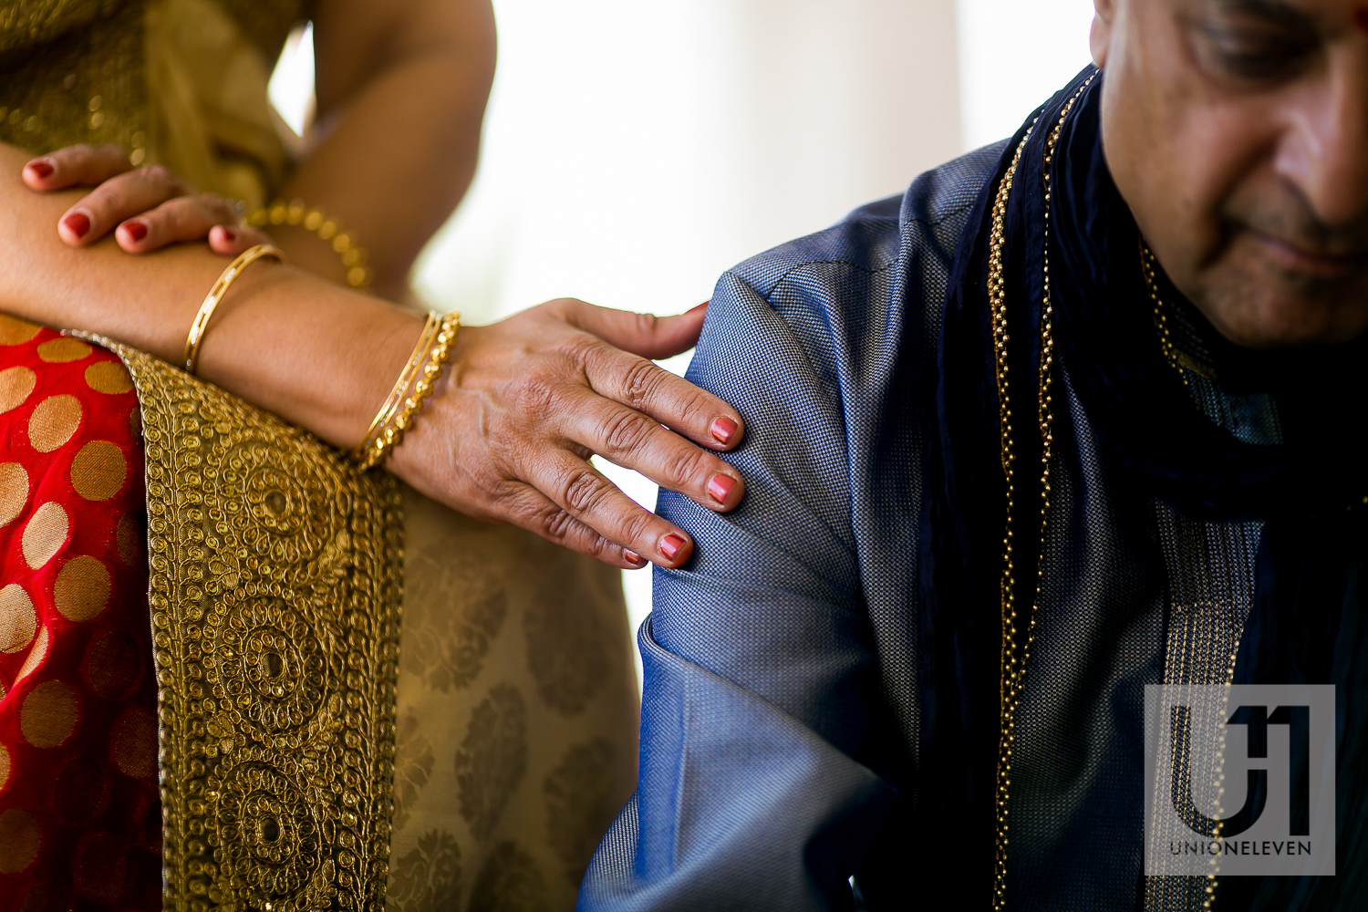
M 1368 215 L 1368 64 L 1338 62 L 1298 98 L 1278 165 L 1323 224 Z

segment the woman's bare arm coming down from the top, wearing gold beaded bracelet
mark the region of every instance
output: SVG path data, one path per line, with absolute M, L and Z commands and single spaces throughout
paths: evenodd
M 475 176 L 494 77 L 492 12 L 488 0 L 323 0 L 315 25 L 327 135 L 280 196 L 356 231 L 375 290 L 397 297 Z M 317 238 L 272 232 L 300 265 L 345 278 Z

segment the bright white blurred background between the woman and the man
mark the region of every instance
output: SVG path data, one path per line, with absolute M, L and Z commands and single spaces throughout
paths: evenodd
M 480 170 L 415 284 L 465 323 L 558 297 L 666 314 L 767 247 L 1011 134 L 1092 0 L 494 0 Z M 302 124 L 312 42 L 272 81 Z M 688 356 L 666 362 L 680 373 Z M 655 487 L 602 466 L 647 507 Z M 650 572 L 624 577 L 633 626 Z

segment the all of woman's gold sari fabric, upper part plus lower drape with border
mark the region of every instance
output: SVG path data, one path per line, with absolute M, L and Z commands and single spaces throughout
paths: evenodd
M 0 0 L 0 142 L 269 198 L 265 81 L 311 7 Z M 618 572 L 105 345 L 144 414 L 166 908 L 572 909 L 636 782 Z

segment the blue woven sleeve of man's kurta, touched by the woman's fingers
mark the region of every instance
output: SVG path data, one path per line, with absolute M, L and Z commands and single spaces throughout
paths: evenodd
M 662 494 L 695 536 L 655 570 L 637 792 L 580 908 L 843 909 L 896 793 L 856 757 L 876 696 L 850 518 L 836 305 L 762 297 L 728 273 L 689 379 L 732 402 L 747 481 L 718 515 Z

